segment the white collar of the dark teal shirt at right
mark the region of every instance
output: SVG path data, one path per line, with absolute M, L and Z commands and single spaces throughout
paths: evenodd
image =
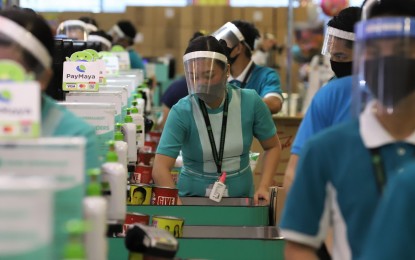
M 397 141 L 388 133 L 388 131 L 386 131 L 376 118 L 373 111 L 374 104 L 374 101 L 367 104 L 359 118 L 360 135 L 362 136 L 364 145 L 369 149 L 395 143 Z M 408 136 L 408 138 L 405 139 L 405 142 L 415 145 L 415 132 Z

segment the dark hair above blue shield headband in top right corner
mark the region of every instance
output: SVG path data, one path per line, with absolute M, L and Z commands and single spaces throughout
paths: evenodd
M 381 0 L 370 10 L 368 18 L 383 15 L 415 16 L 415 0 Z

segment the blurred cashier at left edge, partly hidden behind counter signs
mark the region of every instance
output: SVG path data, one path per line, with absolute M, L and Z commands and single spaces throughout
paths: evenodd
M 39 82 L 42 92 L 53 75 L 53 47 L 51 29 L 41 16 L 20 9 L 0 11 L 0 60 L 19 63 Z M 86 169 L 100 166 L 94 128 L 45 93 L 42 93 L 41 121 L 43 137 L 84 137 Z

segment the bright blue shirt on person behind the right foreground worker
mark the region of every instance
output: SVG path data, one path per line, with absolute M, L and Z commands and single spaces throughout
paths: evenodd
M 310 137 L 351 118 L 352 76 L 331 80 L 321 88 L 301 121 L 291 153 L 299 154 Z

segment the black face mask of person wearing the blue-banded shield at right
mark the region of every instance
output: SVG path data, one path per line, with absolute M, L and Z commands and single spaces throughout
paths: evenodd
M 396 106 L 415 91 L 414 75 L 415 59 L 384 57 L 365 62 L 366 84 L 385 107 Z

